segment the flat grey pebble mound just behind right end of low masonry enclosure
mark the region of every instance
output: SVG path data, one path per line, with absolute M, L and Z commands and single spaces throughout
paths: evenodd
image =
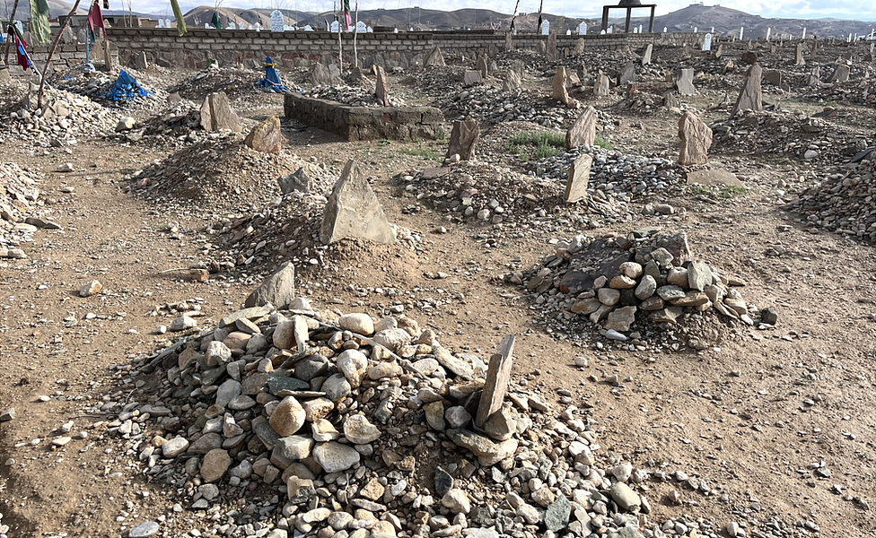
M 578 117 L 577 110 L 562 106 L 549 97 L 534 97 L 522 90 L 501 91 L 477 86 L 444 94 L 434 100 L 431 106 L 441 109 L 448 120 L 475 119 L 489 124 L 529 121 L 554 127 L 566 125 Z

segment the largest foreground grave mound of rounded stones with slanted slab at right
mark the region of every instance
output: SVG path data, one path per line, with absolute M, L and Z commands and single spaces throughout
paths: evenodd
M 407 317 L 289 307 L 223 317 L 135 365 L 154 380 L 140 398 L 97 405 L 120 407 L 109 433 L 180 508 L 258 503 L 205 532 L 637 538 L 650 526 L 635 491 L 647 473 L 597 463 L 596 423 L 572 393 L 556 412 L 526 379 L 507 388 L 512 337 L 487 366 Z

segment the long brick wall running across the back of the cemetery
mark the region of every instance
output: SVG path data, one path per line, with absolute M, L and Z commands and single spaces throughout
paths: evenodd
M 206 65 L 208 57 L 215 58 L 220 65 L 243 64 L 258 67 L 265 56 L 272 56 L 283 67 L 309 65 L 321 56 L 337 58 L 337 34 L 327 31 L 250 31 L 250 30 L 206 30 L 190 29 L 184 36 L 178 36 L 174 29 L 112 28 L 110 41 L 118 47 L 119 60 L 124 65 L 132 54 L 145 52 L 148 61 L 164 66 L 185 66 L 200 68 Z M 387 61 L 407 66 L 422 58 L 434 48 L 441 47 L 445 54 L 474 55 L 479 52 L 495 54 L 504 48 L 505 32 L 480 31 L 434 31 L 400 33 L 364 33 L 356 38 L 356 49 L 360 59 L 381 56 L 384 65 Z M 558 35 L 556 48 L 560 56 L 571 52 L 579 36 Z M 702 44 L 705 34 L 692 33 L 652 33 L 652 34 L 609 34 L 583 36 L 586 48 L 641 48 L 647 43 L 671 46 Z M 521 33 L 514 36 L 515 48 L 538 48 L 539 41 L 547 41 L 547 36 L 534 33 Z M 353 54 L 353 34 L 342 34 L 344 57 Z

